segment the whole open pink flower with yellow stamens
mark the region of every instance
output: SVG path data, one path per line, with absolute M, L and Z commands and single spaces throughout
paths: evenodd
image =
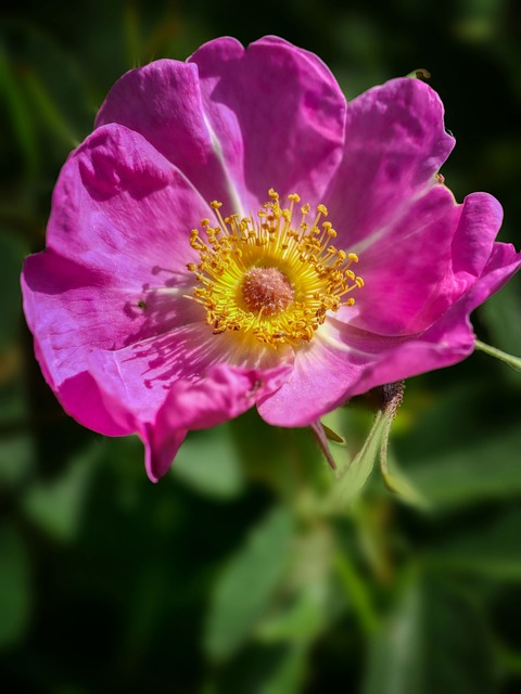
M 494 243 L 494 197 L 458 205 L 443 184 L 453 146 L 424 82 L 346 104 L 319 59 L 275 37 L 127 73 L 23 273 L 64 409 L 138 433 L 156 480 L 189 429 L 254 404 L 308 425 L 467 357 L 469 313 L 521 259 Z

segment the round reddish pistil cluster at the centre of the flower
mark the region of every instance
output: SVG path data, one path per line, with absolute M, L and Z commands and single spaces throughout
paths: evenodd
M 242 283 L 242 297 L 254 313 L 275 316 L 290 306 L 295 290 L 277 268 L 251 268 Z

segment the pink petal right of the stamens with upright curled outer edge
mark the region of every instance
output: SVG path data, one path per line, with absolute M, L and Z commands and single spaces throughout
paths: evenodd
M 353 324 L 382 335 L 427 330 L 481 274 L 503 210 L 486 193 L 456 205 L 443 185 L 414 203 L 398 223 L 360 253 Z M 348 320 L 344 311 L 341 320 Z

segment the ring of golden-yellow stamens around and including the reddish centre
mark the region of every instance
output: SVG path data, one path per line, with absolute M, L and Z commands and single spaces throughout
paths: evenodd
M 358 256 L 330 245 L 336 231 L 329 221 L 320 223 L 325 205 L 317 206 L 313 221 L 310 206 L 303 205 L 295 223 L 300 196 L 289 195 L 282 208 L 274 189 L 268 195 L 256 217 L 242 219 L 223 218 L 221 203 L 209 204 L 218 224 L 201 221 L 206 240 L 196 229 L 190 234 L 201 258 L 187 265 L 199 282 L 190 298 L 204 306 L 216 335 L 233 331 L 270 347 L 296 347 L 313 338 L 327 311 L 353 306 L 347 295 L 364 280 L 350 269 Z

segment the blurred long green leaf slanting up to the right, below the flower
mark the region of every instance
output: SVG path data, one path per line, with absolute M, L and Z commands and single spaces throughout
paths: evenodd
M 265 614 L 287 566 L 292 526 L 285 510 L 270 511 L 218 578 L 204 637 L 213 660 L 231 656 Z

